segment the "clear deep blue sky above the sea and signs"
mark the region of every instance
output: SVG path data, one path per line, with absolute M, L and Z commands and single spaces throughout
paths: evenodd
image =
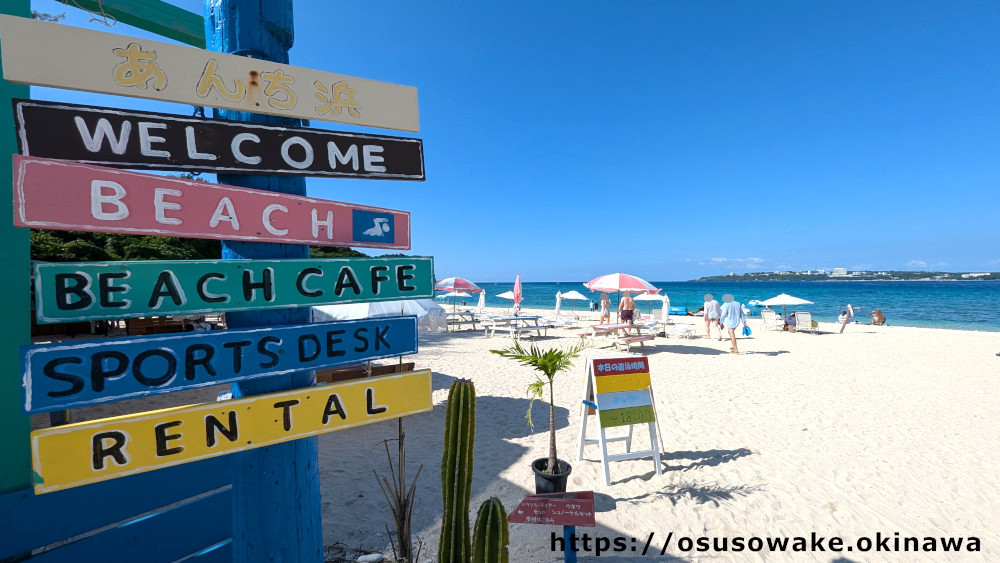
M 1000 270 L 995 0 L 294 6 L 292 64 L 419 89 L 428 178 L 309 195 L 410 211 L 439 277 Z

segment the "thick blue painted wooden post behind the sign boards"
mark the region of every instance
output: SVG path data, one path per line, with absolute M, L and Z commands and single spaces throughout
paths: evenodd
M 291 0 L 207 0 L 205 39 L 209 50 L 288 63 L 292 46 Z M 236 78 L 236 77 L 233 77 Z M 246 78 L 246 77 L 239 77 Z M 258 86 L 261 87 L 261 86 Z M 299 126 L 286 119 L 215 110 L 215 117 Z M 305 195 L 302 178 L 219 174 L 219 182 Z M 292 244 L 224 242 L 224 259 L 307 258 L 309 247 Z M 227 313 L 230 327 L 309 322 L 309 309 Z M 233 385 L 233 396 L 270 393 L 315 382 L 314 372 L 263 378 Z M 236 454 L 233 475 L 233 559 L 235 561 L 322 561 L 319 468 L 316 438 Z

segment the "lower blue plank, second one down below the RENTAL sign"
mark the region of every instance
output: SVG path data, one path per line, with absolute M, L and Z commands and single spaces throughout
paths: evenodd
M 169 563 L 232 537 L 232 489 L 226 488 L 141 520 L 31 558 L 33 563 Z

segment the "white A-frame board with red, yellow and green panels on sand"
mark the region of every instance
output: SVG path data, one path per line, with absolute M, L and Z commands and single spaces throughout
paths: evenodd
M 587 437 L 589 411 L 594 409 L 600 434 Z M 632 451 L 632 427 L 645 424 L 649 427 L 650 449 Z M 625 434 L 608 436 L 606 429 L 627 426 Z M 625 442 L 625 453 L 608 454 L 608 442 Z M 576 460 L 583 459 L 583 447 L 597 443 L 601 446 L 601 464 L 604 466 L 604 484 L 611 485 L 608 463 L 626 459 L 652 457 L 656 474 L 660 475 L 660 446 L 656 437 L 656 409 L 653 390 L 649 381 L 649 358 L 627 356 L 617 358 L 589 358 L 587 377 L 583 386 L 583 404 L 580 407 L 580 441 Z

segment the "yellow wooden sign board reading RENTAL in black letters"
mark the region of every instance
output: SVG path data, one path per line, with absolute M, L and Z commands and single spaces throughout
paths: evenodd
M 31 433 L 35 494 L 431 410 L 419 370 L 46 428 Z

